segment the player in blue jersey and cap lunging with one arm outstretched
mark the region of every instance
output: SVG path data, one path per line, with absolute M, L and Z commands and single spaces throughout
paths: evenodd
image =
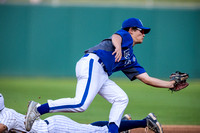
M 83 112 L 97 94 L 112 104 L 109 114 L 109 132 L 118 132 L 120 120 L 128 104 L 126 93 L 109 76 L 122 71 L 131 81 L 159 87 L 173 88 L 175 81 L 164 81 L 150 77 L 138 63 L 133 47 L 141 44 L 150 28 L 144 27 L 141 20 L 129 18 L 122 28 L 110 38 L 85 51 L 85 55 L 76 64 L 76 95 L 74 98 L 48 100 L 45 104 L 32 101 L 26 115 L 26 129 L 30 130 L 34 120 L 45 113 Z

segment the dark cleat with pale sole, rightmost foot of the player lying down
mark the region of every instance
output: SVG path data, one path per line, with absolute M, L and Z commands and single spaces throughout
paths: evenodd
M 147 127 L 154 131 L 155 133 L 163 133 L 163 129 L 161 124 L 157 121 L 156 116 L 153 113 L 149 113 L 146 117 Z

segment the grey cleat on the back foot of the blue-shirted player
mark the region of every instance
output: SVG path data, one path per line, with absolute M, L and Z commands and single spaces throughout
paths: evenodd
M 34 121 L 40 116 L 40 113 L 37 111 L 37 106 L 40 104 L 34 101 L 30 101 L 28 105 L 28 111 L 25 117 L 25 128 L 27 131 L 30 131 Z

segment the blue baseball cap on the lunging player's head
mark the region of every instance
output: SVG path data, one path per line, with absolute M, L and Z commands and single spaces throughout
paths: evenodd
M 144 34 L 150 32 L 151 28 L 143 27 L 142 21 L 138 18 L 129 18 L 122 23 L 122 29 L 129 27 L 137 27 L 144 30 Z

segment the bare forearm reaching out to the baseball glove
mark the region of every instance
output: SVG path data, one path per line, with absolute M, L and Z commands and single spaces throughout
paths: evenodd
M 175 81 L 164 81 L 157 78 L 150 77 L 147 73 L 142 73 L 136 76 L 137 79 L 141 80 L 147 85 L 159 88 L 173 88 Z

